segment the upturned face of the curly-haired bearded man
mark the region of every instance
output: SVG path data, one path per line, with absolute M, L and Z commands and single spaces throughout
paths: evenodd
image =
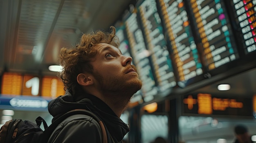
M 98 53 L 91 64 L 99 90 L 113 94 L 129 92 L 133 95 L 141 88 L 137 70 L 130 65 L 131 57 L 122 55 L 118 48 L 110 44 L 97 44 L 95 48 Z

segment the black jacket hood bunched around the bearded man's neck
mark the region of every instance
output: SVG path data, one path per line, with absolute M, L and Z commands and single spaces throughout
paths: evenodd
M 94 95 L 85 95 L 85 98 L 75 101 L 74 97 L 66 91 L 64 96 L 59 96 L 48 104 L 49 113 L 54 117 L 52 121 L 74 109 L 86 109 L 97 114 L 117 141 L 121 141 L 130 131 L 127 124 L 117 117 L 106 103 Z

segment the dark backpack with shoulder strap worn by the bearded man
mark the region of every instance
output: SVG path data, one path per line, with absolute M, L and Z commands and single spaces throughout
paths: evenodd
M 101 127 L 102 143 L 108 142 L 106 128 L 101 119 L 88 110 L 76 109 L 63 114 L 49 127 L 42 117 L 37 117 L 36 123 L 28 120 L 22 121 L 22 119 L 7 121 L 0 129 L 0 143 L 47 143 L 55 128 L 67 117 L 75 114 L 84 114 L 95 119 Z M 42 123 L 44 131 L 40 128 Z

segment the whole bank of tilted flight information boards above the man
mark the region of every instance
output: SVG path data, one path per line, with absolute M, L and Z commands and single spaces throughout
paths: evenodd
M 232 68 L 253 59 L 249 53 L 256 53 L 255 4 L 256 0 L 139 0 L 123 22 L 143 97 L 214 80 L 222 73 L 232 75 Z

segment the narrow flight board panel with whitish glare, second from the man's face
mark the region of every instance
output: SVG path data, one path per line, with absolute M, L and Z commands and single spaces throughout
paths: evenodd
M 146 49 L 146 44 L 137 16 L 136 12 L 131 13 L 124 24 L 131 55 L 142 81 L 141 90 L 143 92 L 144 100 L 149 101 L 154 95 L 157 95 L 158 89 L 153 75 L 153 68 L 150 63 L 150 53 Z M 150 99 L 147 99 L 147 97 Z

